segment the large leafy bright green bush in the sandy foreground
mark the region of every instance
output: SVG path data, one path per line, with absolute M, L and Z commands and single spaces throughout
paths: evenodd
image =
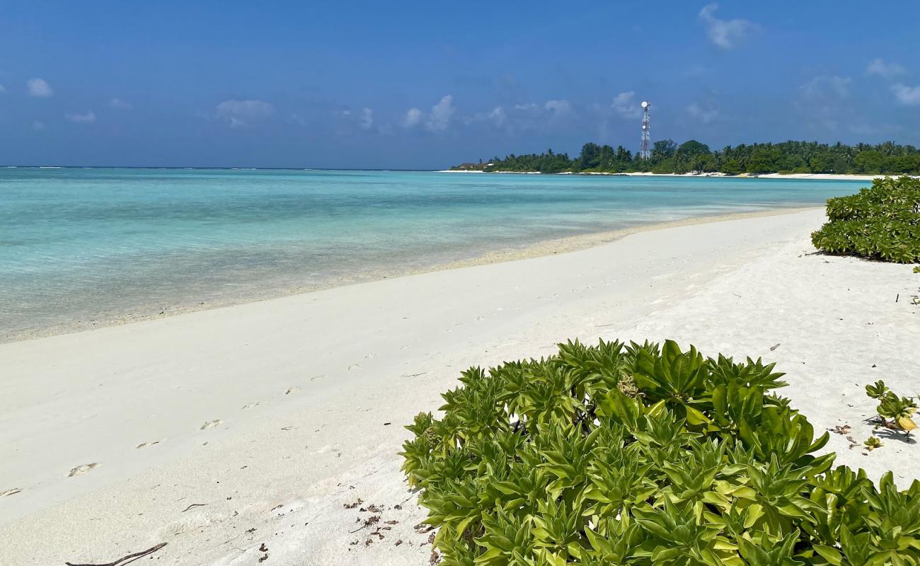
M 403 469 L 448 565 L 920 563 L 920 482 L 814 456 L 773 367 L 576 341 L 472 368 Z

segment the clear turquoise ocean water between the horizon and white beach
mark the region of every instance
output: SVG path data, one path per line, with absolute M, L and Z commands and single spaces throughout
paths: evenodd
M 820 205 L 867 184 L 0 168 L 0 340 L 424 269 L 555 237 Z

